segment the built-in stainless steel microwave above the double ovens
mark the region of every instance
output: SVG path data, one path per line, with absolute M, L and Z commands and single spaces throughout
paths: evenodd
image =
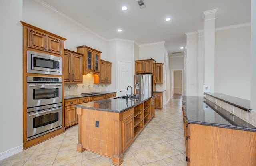
M 28 50 L 27 72 L 62 75 L 62 57 Z

